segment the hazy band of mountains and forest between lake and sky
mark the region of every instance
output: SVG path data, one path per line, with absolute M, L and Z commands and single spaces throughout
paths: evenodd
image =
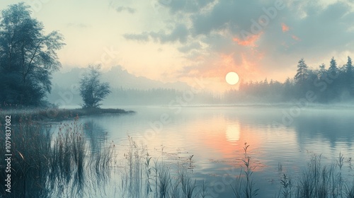
M 79 79 L 86 69 L 73 68 L 53 76 L 50 103 L 57 105 L 81 105 Z M 300 59 L 292 78 L 280 82 L 265 78 L 263 81 L 239 81 L 237 88 L 212 92 L 207 88 L 195 88 L 176 81 L 163 83 L 128 73 L 122 66 L 113 66 L 102 74 L 103 81 L 111 86 L 111 94 L 103 105 L 252 105 L 292 104 L 350 105 L 354 101 L 354 69 L 350 57 L 338 66 L 334 57 L 320 66 L 307 66 Z M 226 83 L 226 82 L 225 82 Z

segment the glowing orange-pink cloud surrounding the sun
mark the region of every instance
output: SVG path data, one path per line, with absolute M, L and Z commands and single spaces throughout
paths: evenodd
M 234 38 L 235 42 L 241 42 L 239 45 L 255 46 L 254 42 L 261 35 L 253 35 L 245 41 Z M 199 57 L 198 66 L 186 68 L 185 75 L 180 79 L 187 83 L 193 84 L 188 76 L 198 76 L 207 82 L 207 88 L 215 93 L 223 92 L 229 89 L 238 89 L 239 83 L 229 85 L 225 81 L 228 72 L 234 71 L 239 74 L 240 81 L 250 81 L 264 79 L 266 76 L 262 73 L 262 59 L 266 52 L 258 49 L 258 47 L 246 47 L 244 49 L 235 48 L 234 52 L 229 53 L 210 53 L 205 57 Z

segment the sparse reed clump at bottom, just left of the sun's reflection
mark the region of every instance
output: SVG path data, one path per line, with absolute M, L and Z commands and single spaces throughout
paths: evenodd
M 125 167 L 121 171 L 120 192 L 122 197 L 196 197 L 196 180 L 191 170 L 178 163 L 177 168 L 161 158 L 152 158 L 144 146 L 137 146 L 128 136 L 129 148 L 124 154 Z M 204 190 L 206 194 L 206 190 Z M 205 195 L 204 195 L 205 196 Z

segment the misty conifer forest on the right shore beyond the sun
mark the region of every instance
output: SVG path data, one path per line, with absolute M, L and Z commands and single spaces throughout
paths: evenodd
M 354 99 L 354 70 L 352 59 L 338 66 L 332 57 L 329 67 L 325 64 L 317 68 L 307 66 L 304 59 L 297 64 L 297 74 L 279 81 L 243 82 L 239 90 L 224 93 L 224 103 L 287 103 L 306 99 L 309 103 L 339 103 Z

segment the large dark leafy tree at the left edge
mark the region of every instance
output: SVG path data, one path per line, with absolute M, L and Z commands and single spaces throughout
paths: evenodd
M 56 51 L 64 45 L 62 35 L 45 35 L 42 23 L 30 14 L 24 3 L 1 11 L 1 103 L 40 105 L 51 91 L 52 72 L 61 67 Z

